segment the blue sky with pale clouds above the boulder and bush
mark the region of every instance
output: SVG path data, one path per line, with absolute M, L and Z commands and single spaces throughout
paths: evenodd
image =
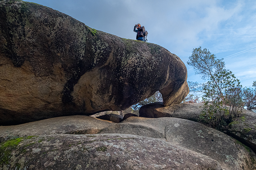
M 176 54 L 186 64 L 188 81 L 202 82 L 187 64 L 193 48 L 224 58 L 243 87 L 256 81 L 255 0 L 33 0 L 126 39 L 135 24 L 148 31 L 148 42 Z

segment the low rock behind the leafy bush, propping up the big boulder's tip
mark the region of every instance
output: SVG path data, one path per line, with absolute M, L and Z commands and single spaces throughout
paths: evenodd
M 199 121 L 203 103 L 180 103 L 164 106 L 163 103 L 152 103 L 140 108 L 140 117 L 176 117 Z M 236 138 L 256 152 L 256 113 L 241 109 L 240 117 L 232 122 L 225 133 Z

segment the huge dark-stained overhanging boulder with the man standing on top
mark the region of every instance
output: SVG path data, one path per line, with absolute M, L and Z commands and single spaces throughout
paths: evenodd
M 0 1 L 0 124 L 124 110 L 160 91 L 188 94 L 187 69 L 156 44 L 86 26 L 51 8 Z

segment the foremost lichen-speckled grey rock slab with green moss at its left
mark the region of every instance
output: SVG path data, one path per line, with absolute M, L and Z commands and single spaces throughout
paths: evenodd
M 205 155 L 163 140 L 122 134 L 48 135 L 0 144 L 0 169 L 221 170 Z M 4 153 L 4 154 L 3 154 Z

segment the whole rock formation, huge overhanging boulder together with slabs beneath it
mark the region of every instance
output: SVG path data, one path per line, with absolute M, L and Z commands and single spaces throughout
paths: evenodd
M 0 1 L 0 16 L 0 125 L 28 122 L 0 126 L 0 169 L 256 169 L 255 114 L 226 132 L 243 144 L 193 122 L 200 104 L 177 104 L 187 70 L 168 50 L 34 3 Z M 158 90 L 164 102 L 140 110 L 153 119 L 86 116 Z

